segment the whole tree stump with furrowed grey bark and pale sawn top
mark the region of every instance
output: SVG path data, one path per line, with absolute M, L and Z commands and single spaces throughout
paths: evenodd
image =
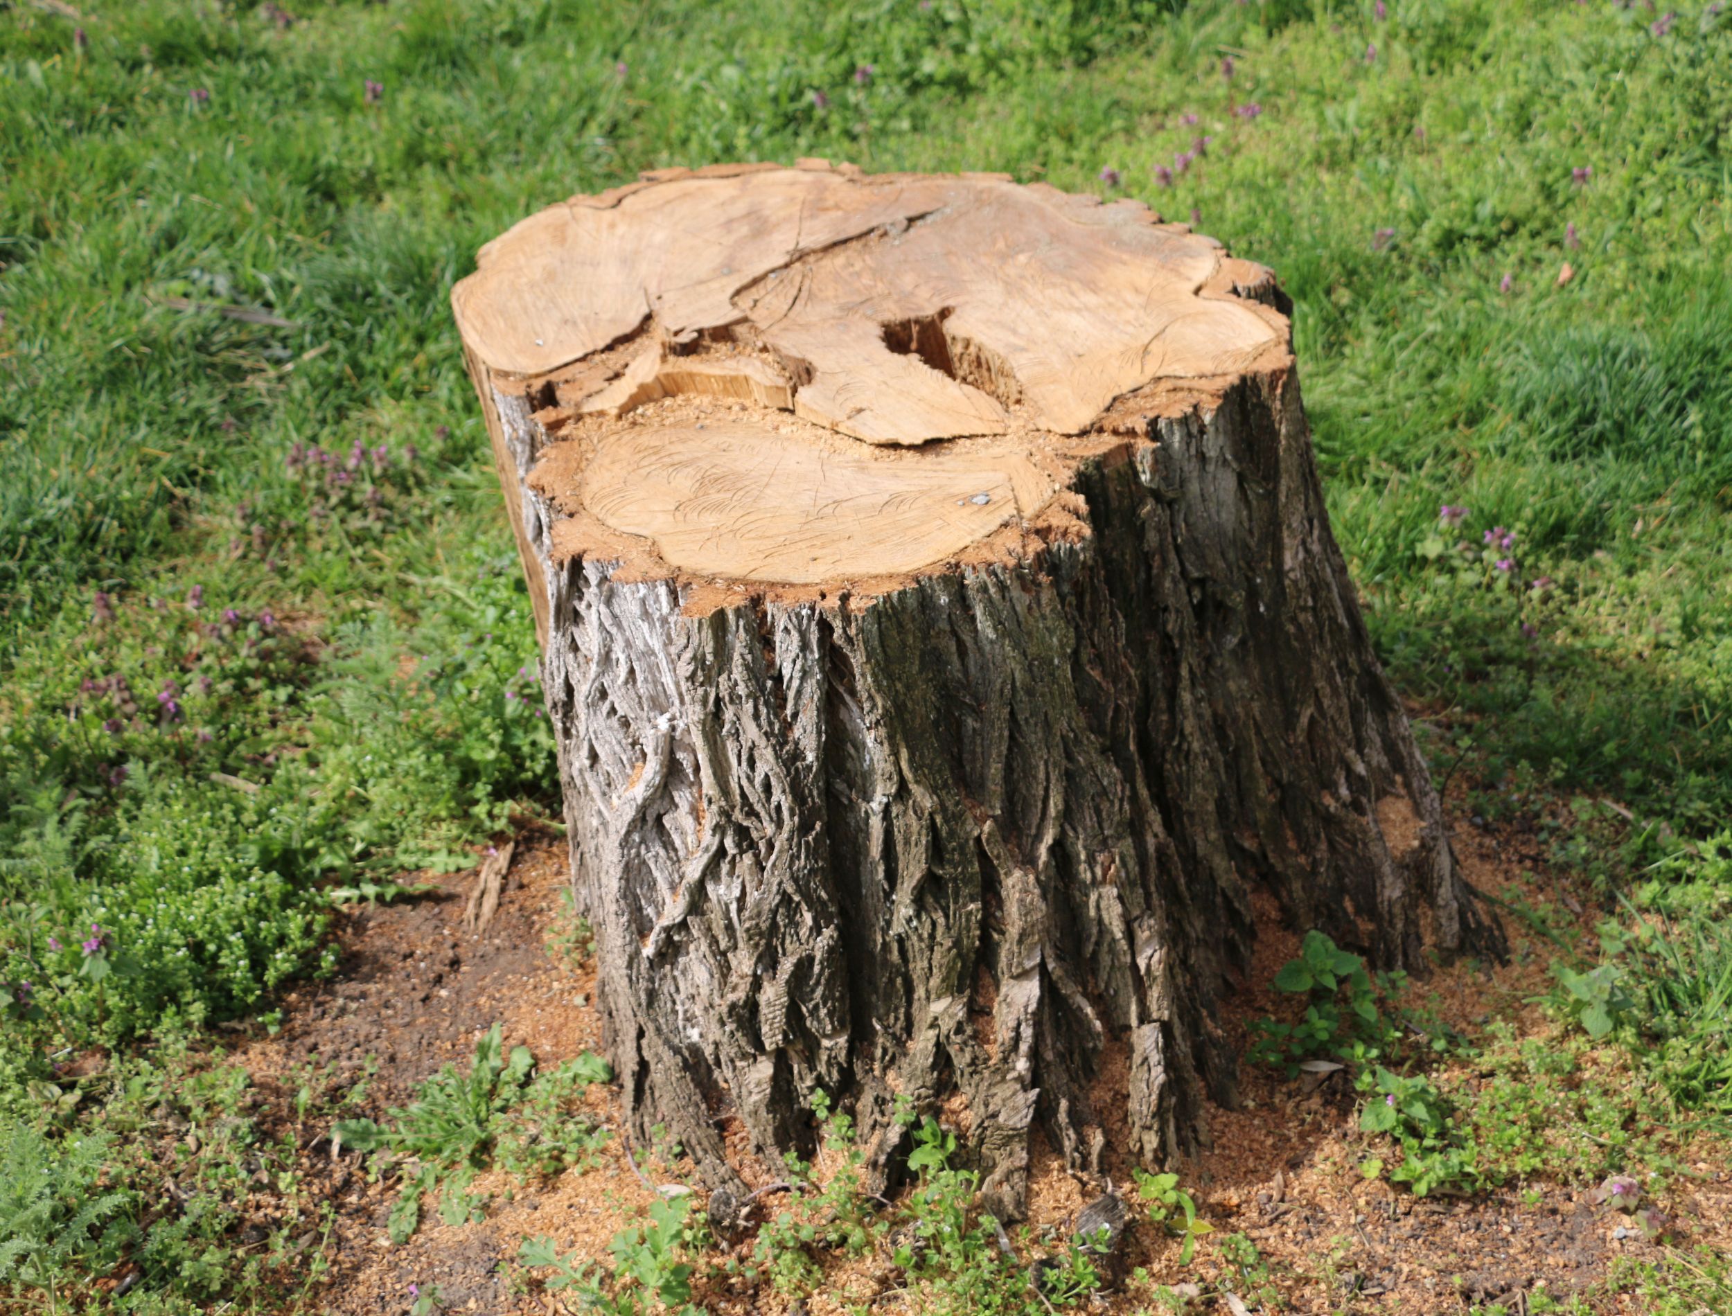
M 1500 947 L 1328 530 L 1273 275 L 1131 201 L 662 170 L 452 303 L 544 646 L 606 1046 L 715 1186 L 944 1105 L 1154 1165 L 1251 893 Z M 1122 1162 L 1121 1162 L 1122 1164 Z

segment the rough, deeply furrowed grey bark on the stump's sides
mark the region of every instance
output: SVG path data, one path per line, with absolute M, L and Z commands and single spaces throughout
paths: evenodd
M 894 1174 L 960 1094 L 1015 1216 L 1036 1127 L 1102 1172 L 1207 1138 L 1251 890 L 1382 968 L 1500 949 L 1330 535 L 1290 372 L 1081 468 L 1089 533 L 859 603 L 703 616 L 558 563 L 532 403 L 478 374 L 532 587 L 606 1046 L 712 1186 L 812 1145 Z M 954 1106 L 953 1106 L 954 1108 Z

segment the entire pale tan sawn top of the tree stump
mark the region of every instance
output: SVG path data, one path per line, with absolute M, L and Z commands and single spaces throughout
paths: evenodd
M 1079 459 L 1290 364 L 1263 267 L 1001 175 L 663 170 L 476 263 L 457 324 L 554 440 L 554 556 L 688 606 L 1025 556 L 1081 533 Z

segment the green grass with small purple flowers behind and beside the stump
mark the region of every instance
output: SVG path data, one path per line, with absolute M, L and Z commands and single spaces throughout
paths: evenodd
M 1611 956 L 1644 1003 L 1618 1035 L 1673 1100 L 1729 1105 L 1732 16 L 289 9 L 0 24 L 5 1155 L 100 1119 L 43 1098 L 68 1049 L 268 1010 L 329 956 L 331 883 L 461 866 L 556 805 L 450 284 L 570 192 L 800 154 L 1067 189 L 1110 166 L 1280 272 L 1335 533 L 1439 774 L 1609 916 L 1675 921 Z M 313 447 L 329 469 L 291 459 Z M 132 1309 L 197 1300 L 175 1274 Z

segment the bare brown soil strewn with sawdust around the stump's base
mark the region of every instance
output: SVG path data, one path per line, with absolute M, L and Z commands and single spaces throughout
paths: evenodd
M 1502 892 L 1516 885 L 1533 899 L 1555 897 L 1529 845 L 1521 833 L 1493 836 L 1465 824 L 1457 831 L 1457 850 L 1479 888 Z M 476 1037 L 495 1020 L 504 1023 L 507 1044 L 528 1046 L 544 1063 L 599 1048 L 592 966 L 573 964 L 549 947 L 566 881 L 563 842 L 542 833 L 518 840 L 499 913 L 481 935 L 461 926 L 473 874 L 431 881 L 438 885 L 433 895 L 346 914 L 336 977 L 293 992 L 284 1001 L 281 1032 L 248 1042 L 237 1055 L 260 1093 L 275 1096 L 270 1105 L 279 1124 L 294 1127 L 307 1179 L 336 1207 L 336 1224 L 324 1242 L 333 1273 L 310 1295 L 310 1307 L 343 1316 L 404 1313 L 412 1302 L 410 1285 L 421 1292 L 436 1285 L 449 1313 L 559 1313 L 558 1295 L 540 1292 L 513 1259 L 530 1235 L 551 1235 L 561 1250 L 604 1257 L 608 1240 L 653 1200 L 651 1183 L 630 1169 L 618 1132 L 601 1165 L 587 1172 L 528 1184 L 483 1174 L 471 1188 L 494 1195 L 483 1222 L 447 1226 L 430 1209 L 416 1236 L 393 1247 L 386 1216 L 397 1186 L 369 1184 L 353 1153 L 331 1157 L 327 1129 L 298 1127 L 288 1110 L 308 1065 L 341 1089 L 376 1063 L 362 1113 L 381 1115 L 410 1100 L 416 1086 L 447 1061 L 466 1065 Z M 1296 952 L 1297 937 L 1280 928 L 1273 906 L 1257 913 L 1256 963 L 1225 1020 L 1240 1041 L 1249 1020 L 1290 1008 L 1271 978 Z M 1510 933 L 1517 949 L 1510 964 L 1457 964 L 1419 989 L 1453 1027 L 1479 1032 L 1493 1018 L 1509 1020 L 1522 1035 L 1552 1027 L 1531 1004 L 1548 980 L 1548 956 L 1524 945 L 1519 928 Z M 1212 1150 L 1181 1172 L 1216 1238 L 1244 1233 L 1256 1243 L 1283 1311 L 1453 1313 L 1490 1302 L 1526 1311 L 1541 1288 L 1552 1297 L 1592 1290 L 1618 1257 L 1659 1257 L 1652 1243 L 1618 1236 L 1626 1217 L 1595 1209 L 1587 1188 L 1540 1183 L 1529 1184 L 1536 1191 L 1528 1195 L 1509 1190 L 1458 1200 L 1415 1198 L 1380 1179 L 1365 1179 L 1358 1165 L 1370 1148 L 1358 1132 L 1354 1094 L 1344 1075 L 1292 1082 L 1245 1067 L 1240 1094 L 1238 1110 L 1212 1112 Z M 611 1091 L 592 1089 L 591 1101 L 594 1119 L 617 1131 Z M 1108 1145 L 1117 1141 L 1108 1138 Z M 1664 1205 L 1684 1238 L 1725 1242 L 1718 1235 L 1732 1219 L 1732 1190 L 1722 1160 L 1709 1160 L 1706 1148 L 1701 1155 L 1692 1190 Z M 1129 1171 L 1122 1162 L 1110 1164 L 1114 1183 L 1126 1191 Z M 689 1165 L 656 1162 L 650 1177 L 656 1184 L 677 1183 L 689 1177 Z M 1093 1186 L 1077 1183 L 1036 1146 L 1034 1226 L 1065 1228 L 1091 1197 Z M 1181 1268 L 1174 1242 L 1150 1229 L 1133 1229 L 1128 1238 L 1129 1264 L 1147 1268 L 1154 1281 L 1193 1283 L 1205 1292 L 1219 1283 L 1257 1309 L 1252 1287 L 1218 1247 L 1205 1243 Z M 859 1302 L 906 1311 L 895 1288 L 895 1273 L 883 1257 L 838 1264 L 805 1311 L 840 1314 Z M 712 1311 L 790 1309 L 788 1299 L 769 1292 L 701 1297 Z M 1096 1309 L 1134 1311 L 1148 1300 L 1147 1287 L 1133 1287 L 1105 1295 Z M 1212 1300 L 1202 1297 L 1192 1309 L 1230 1309 L 1225 1299 L 1219 1306 Z M 1618 1299 L 1597 1302 L 1604 1311 L 1638 1311 Z

